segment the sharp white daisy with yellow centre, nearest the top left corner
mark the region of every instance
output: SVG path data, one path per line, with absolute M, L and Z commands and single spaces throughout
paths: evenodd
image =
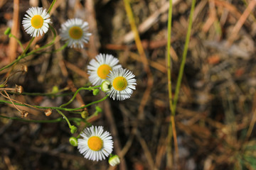
M 48 31 L 50 23 L 50 15 L 46 12 L 46 9 L 39 7 L 31 7 L 26 11 L 22 24 L 26 33 L 33 37 L 43 35 Z

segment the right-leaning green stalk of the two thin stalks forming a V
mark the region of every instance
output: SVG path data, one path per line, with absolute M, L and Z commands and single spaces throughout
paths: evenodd
M 185 63 L 186 63 L 186 55 L 187 55 L 187 52 L 188 52 L 188 43 L 189 43 L 189 39 L 191 37 L 191 28 L 192 28 L 193 12 L 194 12 L 194 9 L 195 9 L 195 5 L 196 5 L 196 0 L 193 0 L 192 5 L 191 5 L 191 13 L 189 15 L 188 32 L 187 32 L 187 35 L 186 35 L 185 47 L 184 47 L 184 50 L 183 50 L 183 55 L 182 55 L 182 60 L 181 60 L 181 67 L 180 67 L 179 72 L 178 72 L 178 80 L 177 80 L 176 89 L 175 89 L 174 108 L 173 108 L 173 112 L 172 112 L 173 115 L 175 115 L 175 112 L 176 112 L 178 94 L 179 94 L 179 90 L 181 89 L 181 80 L 182 80 L 182 77 L 183 77 L 183 71 L 184 71 L 184 67 L 185 67 Z

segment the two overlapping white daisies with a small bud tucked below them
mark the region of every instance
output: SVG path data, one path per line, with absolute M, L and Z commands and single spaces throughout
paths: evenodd
M 101 84 L 102 91 L 111 98 L 123 101 L 131 97 L 137 83 L 134 74 L 128 69 L 123 69 L 118 62 L 112 55 L 100 54 L 90 61 L 87 69 L 93 85 Z

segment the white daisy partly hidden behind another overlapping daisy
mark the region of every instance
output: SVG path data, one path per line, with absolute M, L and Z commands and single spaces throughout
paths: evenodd
M 122 66 L 117 64 L 119 60 L 112 55 L 100 54 L 96 59 L 92 59 L 87 66 L 89 80 L 94 86 L 102 84 L 107 78 L 107 74 L 113 69 L 119 69 Z

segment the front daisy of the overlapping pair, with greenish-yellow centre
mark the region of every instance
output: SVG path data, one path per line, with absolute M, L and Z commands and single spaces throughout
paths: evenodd
M 114 69 L 107 75 L 108 81 L 112 84 L 110 91 L 107 94 L 113 99 L 117 98 L 119 101 L 123 101 L 126 98 L 130 98 L 132 90 L 135 90 L 136 79 L 134 74 L 128 69 Z

